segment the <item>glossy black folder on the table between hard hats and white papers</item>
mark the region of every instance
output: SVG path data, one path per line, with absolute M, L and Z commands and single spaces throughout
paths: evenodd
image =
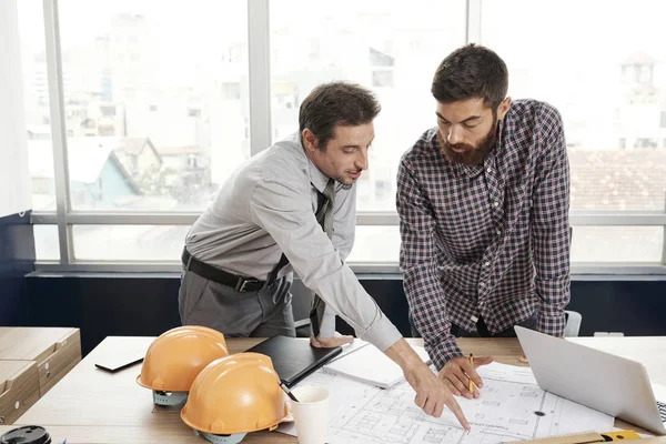
M 256 344 L 248 352 L 271 357 L 280 381 L 291 387 L 342 353 L 342 347 L 317 349 L 310 345 L 307 339 L 278 335 Z

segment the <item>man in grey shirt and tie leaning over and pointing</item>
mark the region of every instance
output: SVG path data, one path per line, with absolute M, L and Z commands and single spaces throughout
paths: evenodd
M 355 182 L 367 169 L 380 104 L 345 82 L 315 88 L 299 132 L 241 165 L 185 239 L 179 311 L 183 324 L 228 336 L 295 335 L 290 287 L 295 270 L 316 294 L 314 346 L 337 346 L 335 314 L 395 361 L 414 402 L 441 416 L 444 405 L 468 424 L 450 390 L 402 337 L 344 259 L 352 250 Z

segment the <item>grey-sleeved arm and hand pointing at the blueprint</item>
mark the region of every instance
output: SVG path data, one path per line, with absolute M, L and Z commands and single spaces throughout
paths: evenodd
M 281 178 L 264 178 L 250 199 L 255 223 L 275 240 L 303 283 L 340 314 L 356 334 L 397 363 L 416 392 L 414 402 L 426 414 L 440 416 L 448 406 L 465 428 L 470 424 L 451 390 L 418 359 L 395 325 L 365 292 L 323 232 L 301 190 Z

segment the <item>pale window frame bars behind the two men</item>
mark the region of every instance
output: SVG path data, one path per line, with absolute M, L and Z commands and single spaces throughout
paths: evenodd
M 180 272 L 178 258 L 172 261 L 81 261 L 73 252 L 73 225 L 154 224 L 191 225 L 199 212 L 82 212 L 72 211 L 67 154 L 67 128 L 63 93 L 60 20 L 58 0 L 43 0 L 48 84 L 56 184 L 56 211 L 36 211 L 32 223 L 58 226 L 60 261 L 38 261 L 44 272 Z M 271 145 L 271 58 L 270 0 L 248 0 L 248 48 L 250 91 L 250 147 L 254 155 Z M 482 0 L 466 0 L 465 42 L 481 41 Z M 359 225 L 397 225 L 396 212 L 360 212 Z M 574 226 L 646 225 L 663 226 L 665 240 L 660 263 L 572 263 L 574 275 L 666 275 L 666 212 L 579 212 L 572 211 Z M 400 273 L 397 261 L 351 263 L 356 273 Z

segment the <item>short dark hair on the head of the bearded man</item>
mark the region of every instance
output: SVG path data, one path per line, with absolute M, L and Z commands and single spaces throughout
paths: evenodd
M 440 63 L 431 92 L 440 103 L 483 99 L 495 110 L 506 98 L 508 71 L 494 51 L 474 43 L 453 51 Z

